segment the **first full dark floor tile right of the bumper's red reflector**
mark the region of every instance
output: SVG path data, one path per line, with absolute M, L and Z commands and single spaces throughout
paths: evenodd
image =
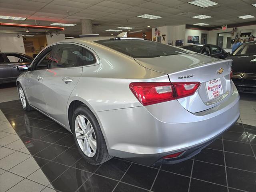
M 203 149 L 199 154 L 195 156 L 195 159 L 209 163 L 224 165 L 223 151 L 218 151 L 214 149 Z

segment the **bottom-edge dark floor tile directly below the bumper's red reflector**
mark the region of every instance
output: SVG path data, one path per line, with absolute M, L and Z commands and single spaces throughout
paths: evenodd
M 154 192 L 187 192 L 190 178 L 160 171 L 152 190 Z

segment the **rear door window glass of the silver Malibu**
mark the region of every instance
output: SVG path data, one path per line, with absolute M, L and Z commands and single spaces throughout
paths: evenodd
M 83 65 L 82 47 L 73 44 L 58 44 L 51 68 L 67 68 Z

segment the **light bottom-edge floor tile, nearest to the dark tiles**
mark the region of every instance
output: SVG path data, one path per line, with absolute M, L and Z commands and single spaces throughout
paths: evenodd
M 36 182 L 24 179 L 7 192 L 40 192 L 44 187 Z

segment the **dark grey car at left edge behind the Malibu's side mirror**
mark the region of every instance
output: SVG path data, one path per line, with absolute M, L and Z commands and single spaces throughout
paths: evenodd
M 22 53 L 0 52 L 0 84 L 16 82 L 22 71 L 17 70 L 19 65 L 29 65 L 33 58 Z

